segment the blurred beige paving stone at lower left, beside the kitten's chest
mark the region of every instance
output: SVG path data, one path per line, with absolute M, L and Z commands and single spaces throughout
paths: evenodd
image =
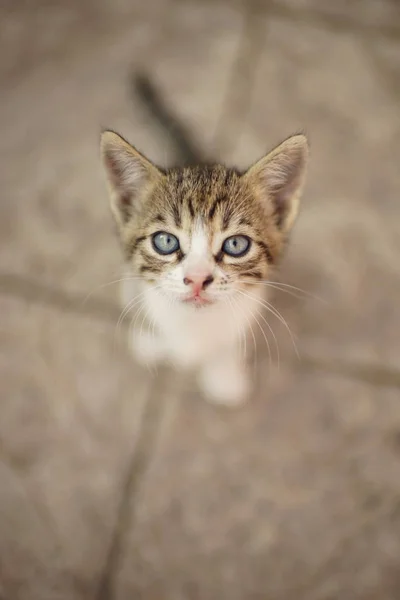
M 114 326 L 1 300 L 0 579 L 87 598 L 105 566 L 152 381 Z

